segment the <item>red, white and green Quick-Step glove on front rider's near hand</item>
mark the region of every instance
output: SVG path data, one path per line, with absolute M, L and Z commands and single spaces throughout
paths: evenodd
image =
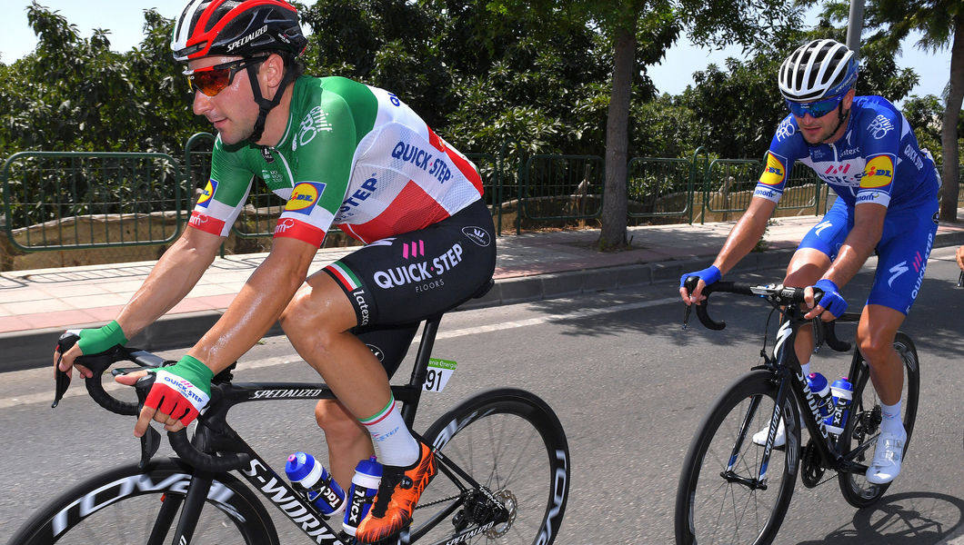
M 145 406 L 173 416 L 184 426 L 194 422 L 211 398 L 214 372 L 200 360 L 186 355 L 156 375 Z

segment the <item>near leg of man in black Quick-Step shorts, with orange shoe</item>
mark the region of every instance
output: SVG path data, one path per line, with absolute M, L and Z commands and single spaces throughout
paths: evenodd
M 308 287 L 285 311 L 284 324 L 289 324 L 285 331 L 290 328 L 289 336 L 294 333 L 302 339 L 325 337 L 324 332 L 314 329 L 317 328 L 315 324 L 323 326 L 328 320 L 325 307 L 329 303 L 326 298 L 315 296 L 319 288 L 332 286 L 341 292 L 343 297 L 339 300 L 347 301 L 354 309 L 354 323 L 362 326 L 407 324 L 442 313 L 469 299 L 492 277 L 495 269 L 494 231 L 488 209 L 478 201 L 447 220 L 362 247 L 326 268 L 323 274 L 308 279 Z M 329 328 L 329 333 L 331 331 L 333 329 Z M 361 341 L 353 338 L 364 347 Z M 319 369 L 323 376 L 339 373 L 340 366 L 352 362 L 345 357 L 319 358 L 317 354 L 325 353 L 324 343 L 320 348 L 311 342 L 293 340 L 293 344 L 312 365 L 329 366 Z M 308 356 L 306 352 L 310 352 Z M 374 359 L 370 350 L 367 356 Z M 393 428 L 389 430 L 376 429 L 384 428 L 386 422 L 401 422 L 400 413 L 393 408 L 390 398 L 384 408 L 366 414 L 357 410 L 352 400 L 346 399 L 338 384 L 333 384 L 328 376 L 326 381 L 352 414 L 364 419 L 362 423 L 368 421 L 374 425 L 367 427 L 373 435 L 386 431 L 384 435 L 388 437 L 387 441 L 379 443 L 382 461 L 386 463 L 383 486 L 368 517 L 359 526 L 359 538 L 373 541 L 376 537 L 397 532 L 407 524 L 421 490 L 435 473 L 430 451 L 418 445 L 404 424 L 397 427 L 392 424 Z M 385 385 L 388 387 L 387 379 Z M 367 394 L 363 388 L 355 388 L 347 395 Z M 408 453 L 403 452 L 405 448 L 398 448 L 398 442 L 409 444 L 409 440 L 415 451 L 411 456 L 415 458 L 412 464 L 400 459 Z M 387 456 L 387 452 L 391 455 Z M 412 482 L 414 485 L 409 484 Z M 392 483 L 406 484 L 399 488 Z M 372 518 L 383 519 L 386 524 L 370 523 Z M 378 530 L 372 530 L 374 528 Z

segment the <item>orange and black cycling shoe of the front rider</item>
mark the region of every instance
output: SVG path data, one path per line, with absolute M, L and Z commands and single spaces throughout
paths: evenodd
M 355 537 L 362 543 L 375 543 L 400 532 L 412 522 L 412 510 L 436 473 L 435 456 L 419 443 L 421 455 L 405 468 L 387 465 L 375 502 L 359 524 Z

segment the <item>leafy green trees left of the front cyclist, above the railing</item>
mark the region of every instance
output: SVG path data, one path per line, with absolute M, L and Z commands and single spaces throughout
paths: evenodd
M 195 122 L 168 51 L 171 23 L 145 13 L 140 48 L 110 50 L 109 32 L 81 38 L 75 25 L 34 2 L 27 20 L 37 50 L 0 65 L 0 155 L 15 151 L 163 151 L 177 153 Z

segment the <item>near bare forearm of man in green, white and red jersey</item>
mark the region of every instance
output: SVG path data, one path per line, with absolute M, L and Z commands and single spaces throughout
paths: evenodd
M 279 239 L 274 245 L 225 314 L 188 351 L 215 373 L 254 347 L 305 282 L 316 248 L 293 239 Z

